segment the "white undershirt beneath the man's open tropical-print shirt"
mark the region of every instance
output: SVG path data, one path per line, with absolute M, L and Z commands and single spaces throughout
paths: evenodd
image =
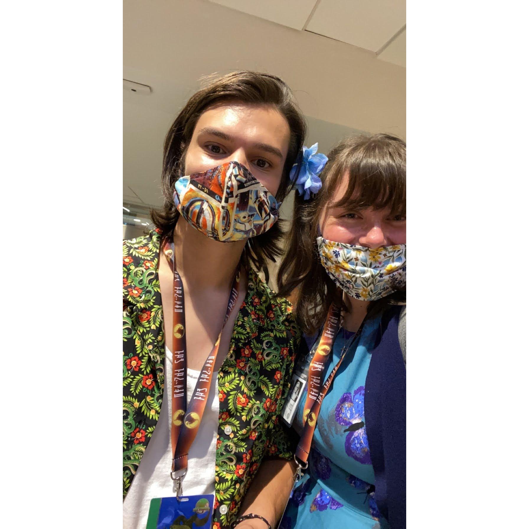
M 187 403 L 195 389 L 200 371 L 187 370 Z M 152 498 L 174 496 L 176 489 L 171 470 L 171 399 L 167 397 L 168 382 L 172 379 L 172 353 L 166 347 L 166 384 L 160 417 L 151 440 L 141 458 L 140 466 L 123 502 L 123 529 L 145 529 Z M 197 436 L 188 455 L 187 475 L 182 482 L 185 496 L 215 494 L 215 452 L 218 429 L 218 384 L 213 373 L 212 385 L 198 427 Z

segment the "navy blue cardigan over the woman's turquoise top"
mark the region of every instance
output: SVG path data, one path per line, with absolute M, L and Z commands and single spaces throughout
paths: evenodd
M 364 413 L 375 470 L 375 501 L 391 529 L 406 527 L 406 366 L 398 341 L 400 307 L 382 316 L 366 378 Z M 304 336 L 312 349 L 320 333 Z

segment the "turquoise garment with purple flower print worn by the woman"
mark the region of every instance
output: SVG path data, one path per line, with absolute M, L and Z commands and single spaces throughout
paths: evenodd
M 336 372 L 318 416 L 309 467 L 294 489 L 280 529 L 330 527 L 335 523 L 346 523 L 354 528 L 387 527 L 373 498 L 375 473 L 364 415 L 370 351 L 379 325 L 380 317 L 364 324 Z M 352 334 L 339 330 L 324 380 L 340 359 Z M 298 433 L 302 431 L 306 392 L 305 387 L 293 423 Z

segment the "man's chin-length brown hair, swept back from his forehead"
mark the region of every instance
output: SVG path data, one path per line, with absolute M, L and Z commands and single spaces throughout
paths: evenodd
M 279 77 L 254 71 L 235 71 L 218 78 L 208 78 L 208 83 L 198 90 L 178 114 L 167 133 L 163 146 L 162 191 L 164 202 L 158 210 L 151 211 L 153 223 L 162 237 L 172 236 L 179 217 L 173 202 L 175 181 L 183 175 L 186 151 L 200 115 L 214 104 L 233 101 L 249 104 L 270 104 L 285 117 L 290 127 L 290 143 L 285 167 L 276 198 L 282 201 L 293 184 L 289 172 L 306 135 L 306 123 L 290 88 Z M 280 241 L 284 232 L 276 222 L 267 232 L 249 239 L 243 253 L 245 265 L 263 270 L 268 280 L 266 260 L 275 262 L 281 255 Z

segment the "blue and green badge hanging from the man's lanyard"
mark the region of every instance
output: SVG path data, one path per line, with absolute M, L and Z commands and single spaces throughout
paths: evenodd
M 214 495 L 152 498 L 145 529 L 211 529 Z

